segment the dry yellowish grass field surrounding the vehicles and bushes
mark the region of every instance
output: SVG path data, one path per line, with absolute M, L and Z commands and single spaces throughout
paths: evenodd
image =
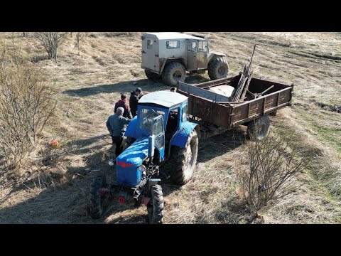
M 254 77 L 294 84 L 293 105 L 271 117 L 275 134 L 290 134 L 312 156 L 296 178 L 296 191 L 261 215 L 264 223 L 341 223 L 341 113 L 322 105 L 341 105 L 341 33 L 199 33 L 210 48 L 227 54 L 237 75 L 257 44 Z M 0 223 L 146 223 L 146 208 L 112 203 L 103 218 L 87 213 L 90 171 L 102 169 L 114 180 L 107 161 L 114 154 L 105 122 L 122 92 L 137 85 L 146 93 L 168 90 L 146 79 L 141 69 L 141 33 L 90 33 L 77 55 L 70 36 L 58 63 L 33 36 L 0 33 L 0 41 L 21 45 L 53 82 L 58 100 L 42 147 L 51 139 L 60 148 L 49 159 L 38 155 L 21 178 L 0 176 Z M 188 83 L 209 80 L 205 75 Z M 200 141 L 197 169 L 185 186 L 162 181 L 165 223 L 247 223 L 237 172 L 247 168 L 246 127 Z M 1 172 L 0 172 L 1 175 Z

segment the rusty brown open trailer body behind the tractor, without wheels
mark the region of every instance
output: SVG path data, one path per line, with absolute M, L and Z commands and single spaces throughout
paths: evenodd
M 232 97 L 209 90 L 210 87 L 219 85 L 236 88 L 239 79 L 240 75 L 196 85 L 178 82 L 177 92 L 188 97 L 188 114 L 192 115 L 193 119 L 200 119 L 205 124 L 214 124 L 224 129 L 235 127 L 238 124 L 247 124 L 254 119 L 266 114 L 274 114 L 276 110 L 291 105 L 293 85 L 269 80 L 251 78 L 248 98 L 244 102 L 231 102 Z M 266 91 L 264 95 L 257 97 L 264 91 Z

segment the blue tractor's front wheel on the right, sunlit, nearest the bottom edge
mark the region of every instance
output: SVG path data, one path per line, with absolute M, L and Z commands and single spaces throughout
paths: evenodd
M 163 193 L 160 185 L 151 187 L 151 201 L 147 205 L 148 223 L 162 224 L 163 223 Z

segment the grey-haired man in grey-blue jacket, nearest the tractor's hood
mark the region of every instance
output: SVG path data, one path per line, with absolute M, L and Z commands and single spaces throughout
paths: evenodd
M 112 144 L 116 144 L 115 154 L 119 156 L 119 154 L 123 151 L 122 141 L 124 135 L 124 124 L 129 124 L 131 119 L 123 117 L 124 108 L 118 107 L 116 114 L 112 114 L 107 119 L 107 128 L 112 136 Z

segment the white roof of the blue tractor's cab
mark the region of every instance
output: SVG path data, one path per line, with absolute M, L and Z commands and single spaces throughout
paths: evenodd
M 180 95 L 178 92 L 166 92 L 166 91 L 159 91 L 159 92 L 151 92 L 144 97 L 141 97 L 139 100 L 139 105 L 151 105 L 156 104 L 162 107 L 174 107 L 176 105 L 180 105 L 188 97 L 184 95 Z

